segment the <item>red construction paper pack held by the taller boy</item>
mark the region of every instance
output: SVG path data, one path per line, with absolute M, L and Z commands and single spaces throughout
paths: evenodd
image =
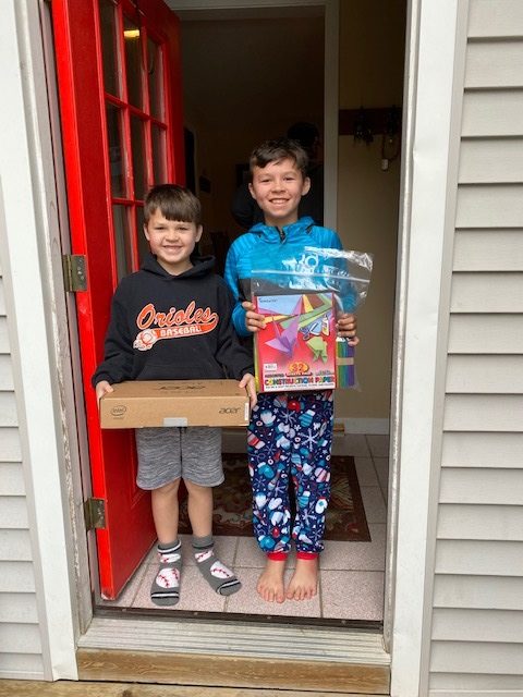
M 258 295 L 266 326 L 254 334 L 259 392 L 336 388 L 332 293 Z

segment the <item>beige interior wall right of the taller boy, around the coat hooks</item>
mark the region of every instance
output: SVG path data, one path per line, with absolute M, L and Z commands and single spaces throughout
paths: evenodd
M 340 2 L 340 109 L 402 105 L 405 0 Z M 400 160 L 381 171 L 381 135 L 339 138 L 338 232 L 345 249 L 374 254 L 358 311 L 361 391 L 339 390 L 337 416 L 388 419 L 400 196 Z

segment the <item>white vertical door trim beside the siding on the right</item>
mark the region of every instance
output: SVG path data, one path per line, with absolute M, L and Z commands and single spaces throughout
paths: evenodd
M 448 321 L 448 181 L 458 10 L 462 0 L 410 0 L 391 423 L 392 535 L 386 637 L 391 696 L 418 697 L 430 631 L 435 482 L 441 439 L 440 330 Z M 401 481 L 401 486 L 400 486 Z M 396 539 L 396 549 L 390 540 Z M 419 692 L 422 689 L 422 692 Z

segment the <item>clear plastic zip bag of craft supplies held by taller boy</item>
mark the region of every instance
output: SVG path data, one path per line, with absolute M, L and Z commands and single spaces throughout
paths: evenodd
M 267 302 L 267 298 L 295 295 L 297 299 L 299 295 L 302 295 L 305 298 L 307 308 L 311 310 L 303 311 L 302 304 L 300 321 L 292 320 L 292 316 L 296 317 L 297 310 L 294 311 L 294 315 L 285 314 L 291 313 L 291 309 L 287 309 L 285 313 L 279 316 L 268 315 L 270 321 L 277 321 L 280 327 L 280 333 L 269 343 L 273 347 L 279 347 L 281 352 L 291 352 L 290 342 L 296 341 L 296 332 L 306 332 L 308 337 L 306 341 L 312 352 L 311 362 L 319 360 L 320 358 L 325 359 L 327 346 L 329 345 L 328 332 L 333 331 L 336 318 L 335 322 L 329 326 L 328 314 L 325 311 L 321 316 L 321 323 L 319 321 L 320 307 L 324 306 L 325 309 L 325 302 L 331 298 L 336 317 L 345 313 L 355 313 L 367 296 L 372 270 L 373 256 L 363 252 L 303 246 L 296 246 L 293 249 L 292 245 L 290 245 L 285 249 L 285 256 L 282 257 L 280 247 L 267 249 L 264 258 L 253 264 L 251 280 L 253 302 L 258 307 L 258 298 L 264 298 L 264 302 Z M 313 296 L 309 294 L 314 294 L 314 304 L 319 306 L 316 314 L 311 306 Z M 273 302 L 277 301 L 275 299 Z M 302 338 L 301 334 L 300 337 Z M 358 389 L 354 366 L 354 346 L 349 344 L 348 339 L 337 337 L 333 351 L 336 354 L 336 380 L 332 378 L 332 383 L 330 383 L 326 377 L 320 377 L 311 378 L 307 382 L 307 377 L 304 372 L 301 378 L 303 383 L 300 389 L 329 389 L 335 387 L 335 382 L 337 388 Z M 258 358 L 259 356 L 256 359 L 257 370 Z M 295 362 L 299 367 L 303 366 L 304 363 L 303 360 Z M 306 367 L 309 368 L 309 362 L 306 363 Z M 259 369 L 260 371 L 262 368 Z M 321 370 L 319 370 L 319 374 L 321 374 Z M 278 375 L 281 376 L 281 372 Z M 299 384 L 296 378 L 296 384 Z M 315 380 L 318 380 L 318 382 L 316 383 Z M 321 380 L 324 380 L 324 383 Z M 263 383 L 258 379 L 258 387 L 260 384 Z M 291 387 L 294 384 L 290 378 L 280 377 L 280 391 L 289 389 L 289 384 Z M 299 388 L 296 387 L 295 389 Z M 278 384 L 273 390 L 267 389 L 266 391 L 277 390 Z M 262 391 L 264 390 L 262 389 Z

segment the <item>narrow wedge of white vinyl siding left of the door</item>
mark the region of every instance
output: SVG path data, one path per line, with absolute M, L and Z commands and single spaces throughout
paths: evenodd
M 44 676 L 32 560 L 4 279 L 0 276 L 0 678 Z

